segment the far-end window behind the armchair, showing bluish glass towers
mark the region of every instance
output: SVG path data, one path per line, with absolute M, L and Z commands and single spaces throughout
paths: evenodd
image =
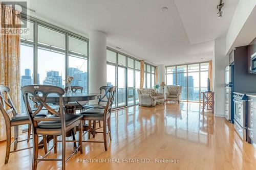
M 165 67 L 168 85 L 182 86 L 181 100 L 199 102 L 200 91 L 207 90 L 208 62 Z

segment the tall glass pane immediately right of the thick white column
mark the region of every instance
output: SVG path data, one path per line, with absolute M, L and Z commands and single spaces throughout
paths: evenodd
M 114 65 L 106 65 L 106 85 L 107 86 L 115 86 L 116 85 L 116 66 Z M 116 107 L 116 94 L 113 102 L 113 107 Z

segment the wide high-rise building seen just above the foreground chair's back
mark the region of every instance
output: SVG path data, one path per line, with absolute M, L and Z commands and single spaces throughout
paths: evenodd
M 53 85 L 63 88 L 62 78 L 59 76 L 59 71 L 47 71 L 46 78 L 43 81 L 44 85 Z

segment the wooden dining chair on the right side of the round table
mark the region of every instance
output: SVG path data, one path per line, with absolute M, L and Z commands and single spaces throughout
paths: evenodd
M 115 92 L 116 92 L 116 86 L 112 86 L 108 89 L 109 98 L 108 102 L 106 103 L 106 106 L 104 109 L 87 109 L 86 111 L 83 111 L 80 113 L 82 115 L 83 120 L 89 120 L 89 135 L 92 133 L 103 133 L 103 141 L 92 141 L 92 140 L 83 140 L 83 142 L 97 142 L 97 143 L 104 143 L 105 151 L 108 150 L 108 140 L 107 137 L 111 138 L 111 123 L 110 123 L 110 114 L 112 105 L 115 98 Z M 103 132 L 96 131 L 96 126 L 93 127 L 93 130 L 91 129 L 91 122 L 92 121 L 103 121 Z M 108 128 L 108 131 L 107 131 Z

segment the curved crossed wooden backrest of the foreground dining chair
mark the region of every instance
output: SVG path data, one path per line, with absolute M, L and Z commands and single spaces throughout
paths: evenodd
M 50 85 L 28 85 L 22 87 L 22 93 L 24 96 L 24 102 L 29 114 L 29 119 L 32 122 L 34 128 L 37 127 L 38 120 L 35 118 L 36 114 L 38 114 L 43 107 L 48 110 L 48 112 L 56 115 L 61 120 L 62 128 L 65 128 L 65 117 L 63 112 L 63 94 L 65 94 L 65 90 L 57 87 L 57 86 L 50 86 Z M 47 98 L 49 94 L 57 94 L 59 96 L 59 112 L 52 109 L 47 103 Z M 38 103 L 38 107 L 35 108 L 33 111 L 31 109 L 29 100 L 33 98 L 36 103 Z M 52 118 L 40 118 L 40 121 L 51 121 Z

